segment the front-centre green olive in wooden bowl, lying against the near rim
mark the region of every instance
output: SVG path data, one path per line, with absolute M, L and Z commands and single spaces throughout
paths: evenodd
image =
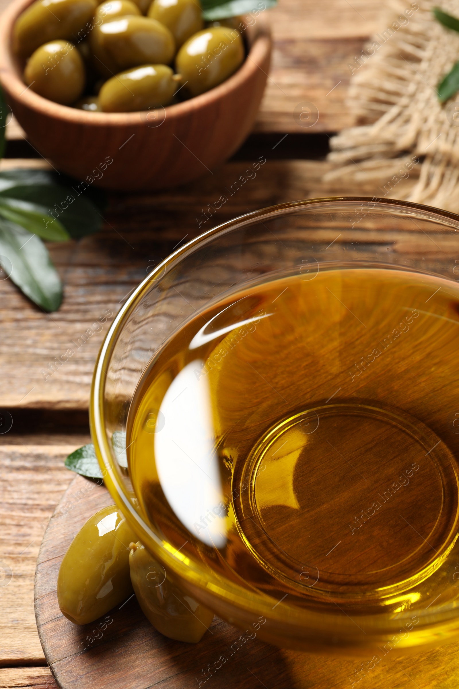
M 99 92 L 103 112 L 132 112 L 169 105 L 179 88 L 180 76 L 167 65 L 141 65 L 120 72 Z

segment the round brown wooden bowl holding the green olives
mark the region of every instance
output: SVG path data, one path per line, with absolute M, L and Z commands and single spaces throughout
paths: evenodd
M 0 82 L 28 140 L 57 169 L 108 189 L 159 189 L 206 174 L 249 134 L 270 65 L 270 33 L 260 17 L 244 32 L 246 61 L 220 86 L 158 110 L 101 113 L 58 105 L 25 89 L 11 37 L 30 4 L 14 0 L 1 15 Z

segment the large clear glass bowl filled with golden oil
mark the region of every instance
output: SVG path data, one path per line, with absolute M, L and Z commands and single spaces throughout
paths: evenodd
M 256 624 L 261 638 L 284 648 L 357 657 L 396 655 L 458 634 L 458 232 L 456 215 L 388 199 L 277 205 L 174 251 L 120 309 L 100 349 L 90 404 L 105 484 L 164 572 L 231 624 Z M 242 292 L 281 279 L 290 280 L 286 289 L 301 280 L 306 295 L 304 356 L 287 355 L 285 329 L 279 335 L 273 327 L 269 345 L 261 338 L 261 319 L 285 316 L 284 293 L 269 302 L 270 313 L 257 311 L 264 314 L 258 320 L 241 316 L 215 331 L 223 342 L 231 329 L 255 322 L 258 344 L 275 351 L 279 342 L 274 367 L 260 372 L 261 347 L 252 378 L 233 380 L 236 391 L 244 387 L 242 398 L 259 390 L 247 414 L 258 413 L 263 441 L 247 445 L 250 433 L 242 433 L 248 450 L 230 457 L 215 431 L 215 452 L 231 474 L 220 522 L 231 516 L 231 533 L 246 548 L 228 555 L 230 526 L 227 539 L 215 530 L 210 540 L 191 533 L 173 478 L 161 488 L 178 520 L 175 531 L 151 516 L 142 480 L 128 469 L 136 447 L 133 400 L 184 327 L 220 302 L 237 303 Z M 189 349 L 198 336 L 215 337 L 209 329 L 217 316 L 202 320 L 199 332 L 196 326 Z M 286 329 L 295 332 L 295 314 L 288 318 Z M 288 373 L 282 389 L 272 384 L 277 368 Z M 327 384 L 313 389 L 319 371 Z M 261 414 L 260 421 L 276 394 L 278 418 Z M 244 403 L 237 402 L 241 409 Z M 158 409 L 149 418 L 153 456 L 168 419 Z M 278 461 L 281 440 L 293 436 L 301 441 L 295 461 L 291 453 Z M 172 468 L 184 491 L 179 465 Z M 261 504 L 260 486 L 274 491 L 269 504 Z M 195 493 L 193 478 L 189 491 Z

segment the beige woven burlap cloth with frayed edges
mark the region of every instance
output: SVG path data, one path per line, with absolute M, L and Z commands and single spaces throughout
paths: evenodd
M 359 126 L 330 140 L 324 183 L 377 183 L 378 196 L 459 212 L 459 93 L 443 105 L 436 87 L 459 60 L 459 33 L 433 6 L 459 17 L 459 0 L 407 2 L 387 10 L 381 31 L 348 65 L 348 105 Z

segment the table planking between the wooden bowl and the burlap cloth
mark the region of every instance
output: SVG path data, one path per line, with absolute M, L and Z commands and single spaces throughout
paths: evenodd
M 7 4 L 1 0 L 0 10 Z M 348 64 L 381 29 L 387 6 L 388 0 L 279 0 L 276 8 L 263 12 L 274 51 L 255 131 L 337 132 L 352 126 L 354 115 L 345 105 Z M 304 102 L 319 110 L 317 124 L 307 129 L 293 115 L 295 106 Z M 21 138 L 14 123 L 8 137 Z

